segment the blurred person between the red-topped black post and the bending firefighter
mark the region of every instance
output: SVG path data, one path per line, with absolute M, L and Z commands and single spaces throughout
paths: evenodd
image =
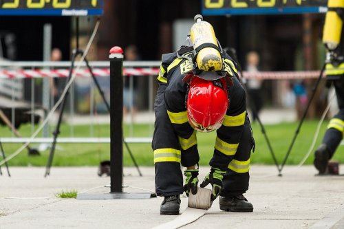
M 125 48 L 125 61 L 139 61 L 140 55 L 136 45 L 129 45 Z M 132 80 L 132 85 L 131 85 Z M 132 87 L 132 88 L 131 88 Z M 134 117 L 137 108 L 137 90 L 138 90 L 138 76 L 125 76 L 124 87 L 123 87 L 123 115 L 127 116 L 130 111 Z

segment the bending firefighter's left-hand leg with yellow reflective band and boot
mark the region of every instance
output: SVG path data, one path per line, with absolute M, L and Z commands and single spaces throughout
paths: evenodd
M 155 192 L 165 197 L 160 207 L 162 215 L 178 215 L 179 195 L 184 192 L 183 176 L 180 169 L 180 146 L 166 112 L 164 91 L 166 85 L 160 85 L 155 97 L 155 129 L 152 149 L 155 166 Z

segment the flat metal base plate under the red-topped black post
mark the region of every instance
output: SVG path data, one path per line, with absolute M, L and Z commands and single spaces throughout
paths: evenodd
M 76 199 L 149 199 L 156 197 L 155 193 L 81 193 Z

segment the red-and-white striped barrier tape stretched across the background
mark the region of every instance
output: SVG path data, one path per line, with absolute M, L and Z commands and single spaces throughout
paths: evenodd
M 109 76 L 109 68 L 92 69 L 94 76 Z M 124 76 L 157 76 L 158 68 L 124 68 Z M 265 80 L 292 80 L 304 78 L 318 78 L 320 71 L 303 72 L 243 72 L 246 79 L 257 78 Z M 68 77 L 69 69 L 0 69 L 0 78 L 46 78 L 46 77 Z M 90 77 L 89 69 L 79 69 L 77 77 Z

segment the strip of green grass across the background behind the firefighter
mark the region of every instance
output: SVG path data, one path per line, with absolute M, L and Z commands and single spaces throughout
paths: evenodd
M 292 151 L 286 164 L 299 164 L 303 157 L 308 153 L 312 144 L 314 133 L 319 120 L 305 120 L 297 135 Z M 325 121 L 321 126 L 318 140 L 315 147 L 317 147 L 323 134 L 325 133 L 326 125 L 328 121 Z M 264 124 L 266 135 L 272 150 L 277 158 L 279 164 L 281 164 L 286 157 L 288 148 L 294 138 L 295 131 L 299 122 L 281 123 L 281 124 Z M 252 164 L 275 164 L 272 160 L 271 152 L 268 148 L 266 139 L 261 131 L 261 127 L 257 123 L 252 124 L 253 135 L 255 137 L 256 149 L 255 153 L 252 153 Z M 1 136 L 11 136 L 10 131 L 6 127 L 0 127 Z M 30 125 L 23 125 L 19 131 L 21 135 L 30 137 Z M 68 137 L 70 134 L 70 127 L 67 124 L 61 125 L 61 134 L 58 137 Z M 153 127 L 148 124 L 135 124 L 133 126 L 133 137 L 151 137 Z M 100 124 L 94 126 L 94 137 L 108 137 L 110 133 L 108 124 Z M 124 126 L 125 137 L 129 136 L 129 126 Z M 38 135 L 41 137 L 41 134 Z M 74 137 L 89 137 L 89 126 L 80 125 L 74 127 Z M 197 140 L 200 151 L 200 164 L 207 165 L 213 154 L 213 147 L 215 142 L 215 132 L 212 133 L 197 133 Z M 31 147 L 38 146 L 39 144 L 30 144 Z M 17 151 L 21 144 L 3 143 L 3 148 L 7 156 Z M 153 153 L 151 150 L 151 144 L 143 143 L 131 143 L 129 144 L 133 157 L 140 166 L 153 166 Z M 125 166 L 134 166 L 131 157 L 125 146 L 123 147 L 123 163 Z M 337 151 L 343 151 L 343 146 L 339 146 Z M 313 160 L 312 151 L 305 164 L 311 164 Z M 50 154 L 50 149 L 41 151 L 40 156 L 28 156 L 28 150 L 24 149 L 8 162 L 10 166 L 45 166 L 47 164 L 47 158 Z M 110 145 L 109 144 L 57 144 L 57 149 L 54 153 L 54 160 L 52 166 L 98 166 L 100 161 L 109 160 L 110 158 Z M 336 153 L 334 155 L 335 160 L 344 161 L 343 153 Z M 1 158 L 0 158 L 1 160 Z

